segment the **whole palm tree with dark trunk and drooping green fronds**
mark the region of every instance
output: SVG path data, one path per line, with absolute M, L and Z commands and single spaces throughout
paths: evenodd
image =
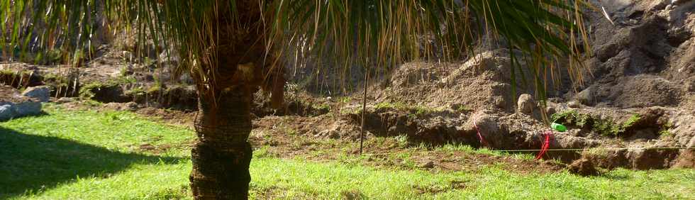
M 528 67 L 534 84 L 543 88 L 544 72 L 562 69 L 582 77 L 580 52 L 588 47 L 584 5 L 584 0 L 4 0 L 0 48 L 38 55 L 60 49 L 79 62 L 101 26 L 132 28 L 138 43 L 173 49 L 199 92 L 193 196 L 247 199 L 251 95 L 259 86 L 284 83 L 277 67 L 283 55 L 330 54 L 333 65 L 366 67 L 452 60 L 471 55 L 477 38 L 491 35 L 508 48 L 513 66 Z M 101 23 L 93 23 L 99 16 Z M 281 95 L 282 89 L 272 94 Z

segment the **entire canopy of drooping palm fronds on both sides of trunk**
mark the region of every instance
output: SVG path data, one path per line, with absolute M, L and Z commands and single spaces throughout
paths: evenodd
M 138 30 L 138 43 L 175 50 L 199 91 L 210 91 L 216 90 L 220 70 L 230 70 L 216 63 L 217 52 L 230 48 L 226 43 L 238 31 L 256 31 L 265 40 L 255 43 L 265 44 L 274 57 L 330 55 L 337 66 L 372 68 L 456 60 L 472 55 L 476 41 L 489 34 L 515 55 L 517 70 L 529 67 L 534 84 L 544 88 L 545 73 L 559 73 L 559 66 L 581 82 L 582 52 L 589 47 L 581 9 L 587 5 L 584 0 L 4 0 L 0 49 L 6 54 L 60 49 L 84 57 L 80 52 L 89 55 L 99 26 Z M 255 12 L 262 16 L 248 16 Z M 104 20 L 94 23 L 99 14 Z

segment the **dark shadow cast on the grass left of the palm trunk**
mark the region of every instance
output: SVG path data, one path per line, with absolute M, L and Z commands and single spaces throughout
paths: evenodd
M 77 177 L 106 177 L 134 164 L 179 160 L 184 158 L 115 152 L 0 127 L 0 199 L 50 189 Z

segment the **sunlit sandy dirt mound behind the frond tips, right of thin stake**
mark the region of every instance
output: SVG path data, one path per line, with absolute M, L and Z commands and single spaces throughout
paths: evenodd
M 513 111 L 509 62 L 504 53 L 486 51 L 463 63 L 407 63 L 372 88 L 372 94 L 379 102 Z M 518 85 L 519 92 L 525 91 Z

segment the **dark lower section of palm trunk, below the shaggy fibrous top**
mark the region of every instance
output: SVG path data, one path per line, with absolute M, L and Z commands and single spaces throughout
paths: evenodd
M 215 105 L 199 99 L 191 190 L 195 199 L 248 199 L 250 91 L 235 87 L 219 94 Z

